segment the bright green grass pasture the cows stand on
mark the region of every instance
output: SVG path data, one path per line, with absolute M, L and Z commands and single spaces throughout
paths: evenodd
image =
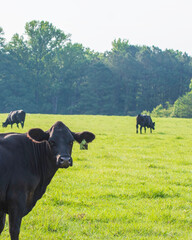
M 153 119 L 156 130 L 140 135 L 135 117 L 27 114 L 24 129 L 0 131 L 47 130 L 58 120 L 96 139 L 88 151 L 74 144 L 74 166 L 56 173 L 20 239 L 192 239 L 191 119 Z

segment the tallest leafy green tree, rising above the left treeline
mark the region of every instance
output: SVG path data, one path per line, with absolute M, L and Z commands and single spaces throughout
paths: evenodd
M 32 66 L 35 101 L 36 105 L 40 107 L 40 104 L 45 103 L 44 97 L 46 97 L 46 93 L 50 92 L 48 91 L 49 83 L 57 85 L 58 79 L 52 74 L 53 65 L 57 68 L 55 65 L 57 63 L 57 53 L 64 48 L 66 42 L 69 41 L 70 35 L 66 35 L 51 23 L 44 21 L 27 23 L 25 32 L 28 37 L 26 44 L 30 50 L 29 61 Z M 52 106 L 45 109 L 45 111 L 51 111 L 51 108 Z

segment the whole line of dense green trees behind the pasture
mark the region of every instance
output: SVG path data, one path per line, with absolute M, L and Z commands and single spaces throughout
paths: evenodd
M 112 42 L 94 52 L 46 21 L 6 43 L 0 28 L 0 112 L 135 115 L 189 91 L 192 58 L 158 47 Z

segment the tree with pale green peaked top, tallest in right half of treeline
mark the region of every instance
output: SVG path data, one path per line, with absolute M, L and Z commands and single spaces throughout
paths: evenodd
M 112 43 L 112 52 L 108 55 L 108 65 L 118 81 L 118 109 L 126 115 L 136 110 L 136 95 L 140 64 L 135 55 L 138 47 L 129 45 L 128 41 L 118 39 Z

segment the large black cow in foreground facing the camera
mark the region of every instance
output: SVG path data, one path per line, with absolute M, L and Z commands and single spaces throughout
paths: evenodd
M 94 140 L 91 132 L 74 133 L 62 122 L 48 131 L 30 129 L 0 138 L 0 233 L 9 215 L 11 240 L 19 239 L 22 218 L 45 193 L 58 168 L 73 165 L 73 142 Z

